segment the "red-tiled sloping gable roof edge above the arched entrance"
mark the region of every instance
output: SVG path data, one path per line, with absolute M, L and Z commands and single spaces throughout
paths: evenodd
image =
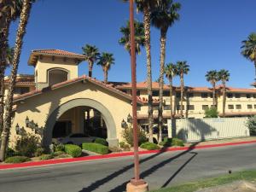
M 125 92 L 123 92 L 121 90 L 117 90 L 111 84 L 104 84 L 104 83 L 102 83 L 102 81 L 96 80 L 94 78 L 90 78 L 90 77 L 88 77 L 86 75 L 83 75 L 83 76 L 81 76 L 79 78 L 76 78 L 76 79 L 70 79 L 70 80 L 61 82 L 59 84 L 54 84 L 52 86 L 45 87 L 42 90 L 32 90 L 32 91 L 30 91 L 28 93 L 25 93 L 25 94 L 22 94 L 20 96 L 15 96 L 14 97 L 14 102 L 19 102 L 19 101 L 25 100 L 27 98 L 30 98 L 32 96 L 38 96 L 40 94 L 43 94 L 44 92 L 60 89 L 61 87 L 68 86 L 69 84 L 75 84 L 75 83 L 80 82 L 80 81 L 89 81 L 92 84 L 96 84 L 96 85 L 102 87 L 103 89 L 110 90 L 111 92 L 116 93 L 119 96 L 123 96 L 126 99 L 132 101 L 132 96 L 126 94 Z M 140 101 L 139 99 L 137 99 L 137 102 L 139 104 L 143 105 L 143 102 Z

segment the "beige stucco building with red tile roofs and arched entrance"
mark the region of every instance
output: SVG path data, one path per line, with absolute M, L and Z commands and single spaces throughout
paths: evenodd
M 28 64 L 34 75 L 19 75 L 15 86 L 15 114 L 10 141 L 17 135 L 15 127 L 33 132 L 27 121 L 43 130 L 42 142 L 48 146 L 52 138 L 69 133 L 87 132 L 106 137 L 117 146 L 122 140 L 121 122 L 131 114 L 131 83 L 109 82 L 80 76 L 78 65 L 84 55 L 59 49 L 32 50 Z M 5 84 L 9 84 L 6 77 Z M 157 125 L 158 83 L 153 83 L 154 124 Z M 222 89 L 217 89 L 218 111 L 222 112 Z M 180 113 L 180 89 L 173 87 L 173 106 L 177 118 Z M 164 86 L 164 120 L 170 118 L 169 86 Z M 256 90 L 227 88 L 226 116 L 256 114 Z M 137 83 L 137 119 L 148 124 L 147 83 Z M 186 87 L 183 114 L 186 118 L 203 118 L 212 105 L 212 89 Z M 222 116 L 222 113 L 219 113 Z

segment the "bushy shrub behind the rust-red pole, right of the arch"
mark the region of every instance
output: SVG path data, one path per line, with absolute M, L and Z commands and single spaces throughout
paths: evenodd
M 125 138 L 125 142 L 132 147 L 133 146 L 133 129 L 131 126 L 123 130 L 122 136 Z M 142 143 L 148 142 L 148 138 L 146 137 L 146 134 L 139 127 L 137 130 L 137 136 L 138 136 L 137 138 L 138 138 L 139 145 L 141 145 Z

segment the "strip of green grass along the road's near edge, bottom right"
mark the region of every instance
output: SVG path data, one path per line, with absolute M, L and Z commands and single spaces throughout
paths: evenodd
M 223 185 L 226 183 L 232 183 L 237 180 L 256 181 L 256 170 L 233 172 L 232 174 L 227 174 L 220 177 L 207 178 L 193 183 L 185 183 L 182 185 L 154 190 L 151 192 L 194 192 L 197 189 Z

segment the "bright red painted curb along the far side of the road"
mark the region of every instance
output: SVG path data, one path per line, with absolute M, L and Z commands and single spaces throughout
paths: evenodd
M 241 144 L 249 144 L 249 143 L 256 143 L 256 140 L 247 141 L 247 142 L 220 143 L 220 144 L 201 145 L 201 146 L 192 146 L 192 147 L 177 147 L 177 148 L 165 148 L 160 150 L 148 150 L 148 151 L 140 151 L 139 154 L 158 154 L 158 153 L 165 153 L 168 151 L 185 151 L 185 150 L 195 149 L 195 148 L 218 148 L 218 147 L 224 147 L 224 146 L 241 145 Z M 0 170 L 31 167 L 31 166 L 55 165 L 55 164 L 61 164 L 61 163 L 79 162 L 79 161 L 87 161 L 87 160 L 102 160 L 102 159 L 125 157 L 125 156 L 131 156 L 131 155 L 133 155 L 133 152 L 124 152 L 119 154 L 103 154 L 103 155 L 94 155 L 94 156 L 68 158 L 68 159 L 57 159 L 57 160 L 42 160 L 42 161 L 17 163 L 17 164 L 4 164 L 4 165 L 0 165 Z

